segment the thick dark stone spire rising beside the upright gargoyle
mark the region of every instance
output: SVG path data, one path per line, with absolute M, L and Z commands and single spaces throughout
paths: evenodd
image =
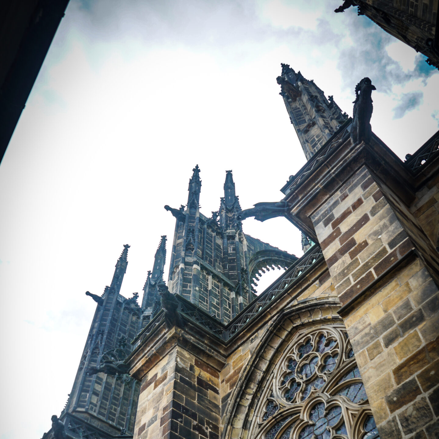
M 299 137 L 303 152 L 309 160 L 348 118 L 342 113 L 332 96 L 324 92 L 288 64 L 281 64 L 282 73 L 277 77 L 280 95 Z

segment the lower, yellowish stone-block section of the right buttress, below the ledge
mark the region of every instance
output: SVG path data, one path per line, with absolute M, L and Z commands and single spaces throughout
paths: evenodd
M 345 319 L 383 438 L 439 433 L 438 307 L 438 288 L 412 258 Z

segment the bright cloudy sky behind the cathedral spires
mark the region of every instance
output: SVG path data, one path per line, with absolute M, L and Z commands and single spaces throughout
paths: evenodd
M 226 169 L 243 209 L 282 198 L 305 157 L 281 62 L 349 115 L 369 76 L 372 129 L 401 158 L 435 133 L 438 72 L 339 3 L 70 1 L 0 166 L 1 439 L 40 438 L 60 414 L 96 305 L 84 292 L 104 291 L 124 244 L 121 292 L 142 292 L 196 164 L 207 216 Z M 301 255 L 285 219 L 244 231 Z

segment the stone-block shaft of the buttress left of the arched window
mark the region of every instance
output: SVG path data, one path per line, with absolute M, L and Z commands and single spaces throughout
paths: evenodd
M 219 371 L 175 346 L 142 379 L 134 439 L 219 439 Z

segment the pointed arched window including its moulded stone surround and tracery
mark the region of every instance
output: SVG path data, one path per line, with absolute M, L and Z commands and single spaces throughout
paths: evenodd
M 273 321 L 227 402 L 223 415 L 223 439 L 283 439 L 290 438 L 291 434 L 294 438 L 308 437 L 304 434 L 317 425 L 313 416 L 320 416 L 321 422 L 326 421 L 325 417 L 333 416 L 331 437 L 341 434 L 340 437 L 363 438 L 367 432 L 364 429 L 366 420 L 370 419 L 372 423 L 368 421 L 367 425 L 376 431 L 352 347 L 337 309 L 331 300 L 313 299 L 286 309 Z M 309 350 L 303 354 L 300 349 L 308 346 L 307 343 Z M 302 358 L 297 360 L 297 370 L 294 365 L 285 369 L 284 363 L 290 356 Z M 303 372 L 304 367 L 311 364 L 309 359 L 316 359 L 314 375 L 317 374 L 317 379 L 311 378 L 314 376 L 312 372 L 308 378 Z M 330 363 L 331 368 L 325 370 L 326 364 Z M 291 376 L 282 378 L 284 370 L 287 374 L 290 374 L 289 370 L 295 371 L 294 379 Z M 319 378 L 320 375 L 323 378 Z M 285 387 L 286 380 L 291 379 L 291 383 L 296 379 L 301 381 L 301 377 L 301 389 L 309 388 L 308 393 L 295 393 L 293 398 L 297 396 L 297 400 L 288 402 L 285 399 L 288 393 L 279 389 Z M 355 392 L 356 396 L 352 397 Z M 376 434 L 378 437 L 378 431 Z

